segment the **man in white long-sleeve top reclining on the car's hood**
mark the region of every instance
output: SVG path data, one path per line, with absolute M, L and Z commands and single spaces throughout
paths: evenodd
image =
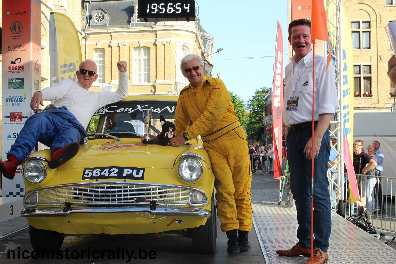
M 7 161 L 0 161 L 4 177 L 13 179 L 19 164 L 33 150 L 36 142 L 51 148 L 51 169 L 73 158 L 80 148 L 80 142 L 87 135 L 86 127 L 93 113 L 100 107 L 115 103 L 128 96 L 128 72 L 126 61 L 119 61 L 118 89 L 115 92 L 99 93 L 88 91 L 97 79 L 94 61 L 80 63 L 76 72 L 77 82 L 63 80 L 59 84 L 34 93 L 30 108 L 36 112 L 43 100 L 54 101 L 46 111 L 30 116 L 21 129 L 15 143 L 7 154 Z

